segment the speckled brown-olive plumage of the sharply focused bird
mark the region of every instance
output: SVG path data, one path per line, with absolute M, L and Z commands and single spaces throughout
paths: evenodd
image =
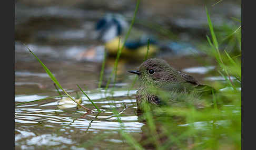
M 149 70 L 153 70 L 154 73 L 149 73 Z M 147 59 L 141 64 L 139 70 L 130 72 L 138 74 L 141 83 L 136 93 L 138 110 L 142 109 L 144 102 L 159 105 L 162 102 L 162 95 L 159 91 L 170 93 L 167 97 L 172 101 L 174 93 L 188 93 L 196 87 L 204 87 L 203 84 L 200 84 L 192 76 L 177 71 L 162 59 Z

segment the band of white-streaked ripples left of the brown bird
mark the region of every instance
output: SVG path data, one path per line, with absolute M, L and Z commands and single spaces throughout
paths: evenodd
M 135 93 L 136 91 L 130 91 L 130 93 Z M 113 98 L 117 99 L 120 96 L 126 96 L 127 91 L 115 91 L 113 93 Z M 104 93 L 91 93 L 89 96 L 91 97 L 94 95 L 94 103 L 98 103 L 100 108 L 123 108 L 123 103 L 126 103 L 127 106 L 132 105 L 130 109 L 134 109 L 134 104 L 136 102 L 135 99 L 123 99 L 123 100 L 103 100 L 102 97 L 106 97 Z M 19 95 L 15 97 L 15 101 L 17 102 L 26 102 L 26 101 L 33 101 L 36 99 L 42 99 L 46 96 L 40 95 Z M 83 103 L 91 104 L 87 98 L 82 97 Z M 70 115 L 56 115 L 56 113 L 64 112 L 63 109 L 49 109 L 52 106 L 56 106 L 58 102 L 49 102 L 43 105 L 37 106 L 37 104 L 33 105 L 21 105 L 15 109 L 15 122 L 18 123 L 38 123 L 38 122 L 49 122 L 54 124 L 61 124 L 61 125 L 70 125 L 76 128 L 86 128 L 91 126 L 92 129 L 100 129 L 100 130 L 119 130 L 121 124 L 117 122 L 117 117 L 113 114 L 112 111 L 101 109 L 102 115 L 97 116 L 97 120 L 103 119 L 104 121 L 91 121 L 90 119 L 95 119 L 94 115 L 87 115 L 90 117 L 89 120 L 86 119 L 77 119 L 77 117 L 72 117 Z M 101 105 L 103 104 L 103 105 Z M 104 105 L 106 104 L 106 105 Z M 34 107 L 33 107 L 34 106 Z M 36 106 L 36 107 L 35 107 Z M 44 106 L 44 108 L 41 108 Z M 68 110 L 68 109 L 67 109 Z M 124 111 L 124 110 L 123 110 Z M 120 112 L 124 113 L 123 111 Z M 74 111 L 70 114 L 85 114 L 85 111 Z M 65 114 L 65 113 L 64 113 Z M 120 119 L 124 121 L 124 129 L 125 130 L 140 130 L 140 127 L 143 125 L 142 123 L 137 123 L 137 116 L 120 116 Z M 125 122 L 129 121 L 129 122 Z M 134 121 L 134 122 L 131 122 Z

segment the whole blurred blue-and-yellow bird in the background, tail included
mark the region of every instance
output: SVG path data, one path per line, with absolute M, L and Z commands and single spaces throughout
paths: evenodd
M 95 29 L 99 32 L 107 52 L 110 55 L 116 55 L 119 46 L 123 45 L 123 35 L 126 33 L 128 24 L 125 18 L 120 14 L 106 14 L 99 22 L 96 23 Z M 129 38 L 124 44 L 122 56 L 131 58 L 144 58 L 147 52 L 147 40 L 150 39 L 149 56 L 161 51 L 166 55 L 191 55 L 198 53 L 196 48 L 187 42 L 178 41 L 159 41 L 153 36 L 146 35 L 141 30 L 133 28 Z

